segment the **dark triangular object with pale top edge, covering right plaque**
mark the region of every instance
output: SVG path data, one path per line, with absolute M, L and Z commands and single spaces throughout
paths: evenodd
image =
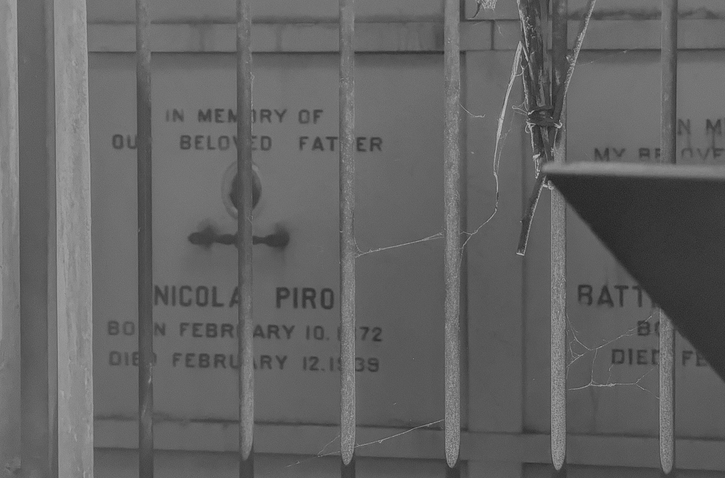
M 544 172 L 725 380 L 725 167 L 580 162 Z

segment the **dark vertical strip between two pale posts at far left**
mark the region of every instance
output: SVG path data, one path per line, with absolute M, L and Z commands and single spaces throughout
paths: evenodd
M 22 475 L 57 474 L 53 0 L 17 2 Z

